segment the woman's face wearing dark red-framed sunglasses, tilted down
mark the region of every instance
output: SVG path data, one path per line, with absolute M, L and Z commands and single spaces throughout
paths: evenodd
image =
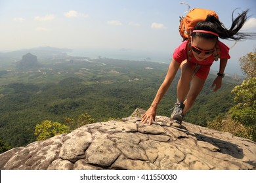
M 191 45 L 192 53 L 196 60 L 203 61 L 213 54 L 216 47 L 216 41 L 196 36 L 192 38 Z

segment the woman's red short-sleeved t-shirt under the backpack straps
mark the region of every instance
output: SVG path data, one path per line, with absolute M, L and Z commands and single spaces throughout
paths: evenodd
M 188 40 L 182 42 L 179 47 L 177 47 L 173 53 L 173 59 L 179 63 L 187 59 L 186 55 L 186 44 Z M 221 49 L 221 56 L 220 58 L 226 58 L 230 59 L 230 56 L 228 54 L 229 48 L 226 46 L 223 42 L 218 41 L 217 44 L 219 45 L 219 48 Z M 211 65 L 214 61 L 214 56 L 211 54 L 209 58 L 206 58 L 203 61 L 197 61 L 194 55 L 192 55 L 192 58 L 190 59 L 193 63 L 199 63 L 200 65 Z

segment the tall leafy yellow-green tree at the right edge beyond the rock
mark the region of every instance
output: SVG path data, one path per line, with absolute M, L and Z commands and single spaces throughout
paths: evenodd
M 251 129 L 250 139 L 256 141 L 256 48 L 240 58 L 240 65 L 246 78 L 232 90 L 237 105 L 229 113 L 233 120 Z

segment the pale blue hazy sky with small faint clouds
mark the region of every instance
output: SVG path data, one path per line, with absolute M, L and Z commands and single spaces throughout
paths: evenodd
M 51 46 L 77 56 L 169 62 L 182 40 L 179 16 L 188 6 L 181 2 L 215 10 L 225 27 L 235 8 L 234 16 L 249 8 L 243 30 L 256 32 L 255 0 L 0 0 L 0 52 Z M 255 40 L 237 42 L 230 65 L 255 47 Z

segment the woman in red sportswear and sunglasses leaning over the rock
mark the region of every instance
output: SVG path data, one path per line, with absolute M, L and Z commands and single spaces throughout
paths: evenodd
M 230 56 L 228 54 L 228 46 L 219 41 L 219 37 L 221 39 L 240 41 L 255 36 L 254 33 L 238 33 L 247 20 L 247 11 L 242 12 L 235 20 L 233 19 L 229 30 L 217 18 L 211 15 L 208 15 L 205 21 L 198 22 L 195 25 L 190 35 L 191 40 L 187 39 L 175 49 L 167 75 L 156 93 L 152 105 L 141 118 L 142 124 L 148 122 L 148 125 L 151 125 L 152 120 L 155 120 L 158 104 L 169 86 L 171 86 L 178 69 L 181 69 L 181 78 L 177 86 L 177 103 L 175 103 L 173 113 L 171 114 L 171 118 L 175 120 L 173 125 L 181 127 L 184 114 L 194 105 L 196 97 L 198 97 L 203 88 L 210 67 L 216 59 L 217 49 L 220 50 L 218 56 L 220 58 L 220 66 L 219 73 L 212 84 L 213 92 L 221 88 L 224 69 Z M 191 50 L 190 54 L 187 53 L 188 49 Z

